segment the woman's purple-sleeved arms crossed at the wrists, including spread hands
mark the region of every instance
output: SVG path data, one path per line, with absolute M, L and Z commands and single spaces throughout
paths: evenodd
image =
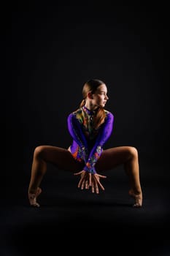
M 69 132 L 72 135 L 72 138 L 76 141 L 76 143 L 82 148 L 82 151 L 85 152 L 84 160 L 85 160 L 85 167 L 79 173 L 74 173 L 74 175 L 80 175 L 80 182 L 78 187 L 81 189 L 88 189 L 91 187 L 92 192 L 98 194 L 98 187 L 104 190 L 100 182 L 100 178 L 106 178 L 106 176 L 101 176 L 96 173 L 95 164 L 102 152 L 102 146 L 108 140 L 109 136 L 112 133 L 114 116 L 112 113 L 107 114 L 107 118 L 104 124 L 101 126 L 100 131 L 98 132 L 98 136 L 96 138 L 96 143 L 93 146 L 90 154 L 85 152 L 85 148 L 88 148 L 88 143 L 85 138 L 85 135 L 82 132 L 82 126 L 80 121 L 77 120 L 74 114 L 70 114 L 68 117 L 68 128 Z

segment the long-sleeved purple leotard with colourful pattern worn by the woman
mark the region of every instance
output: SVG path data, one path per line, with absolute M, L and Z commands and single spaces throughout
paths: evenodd
M 83 170 L 96 173 L 95 164 L 103 151 L 104 143 L 112 133 L 114 116 L 104 110 L 106 118 L 98 129 L 93 128 L 95 111 L 83 106 L 70 113 L 67 119 L 69 133 L 73 138 L 69 150 L 78 162 L 85 162 Z

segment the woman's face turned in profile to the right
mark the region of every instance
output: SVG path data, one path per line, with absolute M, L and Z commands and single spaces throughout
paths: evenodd
M 107 96 L 107 86 L 103 83 L 98 86 L 98 89 L 92 94 L 92 103 L 96 107 L 104 108 L 109 97 Z

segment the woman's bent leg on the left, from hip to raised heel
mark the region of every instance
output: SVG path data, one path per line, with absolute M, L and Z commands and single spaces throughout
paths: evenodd
M 28 199 L 31 206 L 39 206 L 36 197 L 42 192 L 39 188 L 47 170 L 47 162 L 56 165 L 61 170 L 79 171 L 82 165 L 76 162 L 72 154 L 65 148 L 55 146 L 38 146 L 34 150 L 31 167 L 31 180 L 28 187 Z

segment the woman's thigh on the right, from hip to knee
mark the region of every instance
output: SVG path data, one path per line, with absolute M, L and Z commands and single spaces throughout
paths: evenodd
M 96 171 L 110 170 L 124 164 L 134 150 L 135 148 L 131 146 L 118 146 L 104 150 L 96 162 Z

